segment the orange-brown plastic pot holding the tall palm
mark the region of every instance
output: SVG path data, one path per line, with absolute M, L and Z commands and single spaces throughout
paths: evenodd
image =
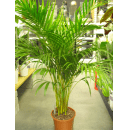
M 75 110 L 72 109 L 71 107 L 68 107 L 68 108 L 70 108 L 71 110 L 75 112 Z M 53 111 L 54 110 L 52 110 L 52 112 Z M 52 116 L 52 112 L 51 112 L 51 116 Z M 74 122 L 75 116 L 76 116 L 76 112 L 75 112 L 75 115 L 69 120 L 58 120 L 52 116 L 54 120 L 55 130 L 73 130 L 73 122 Z

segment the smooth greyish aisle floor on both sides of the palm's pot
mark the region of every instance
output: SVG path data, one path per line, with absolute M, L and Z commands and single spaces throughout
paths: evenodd
M 40 75 L 36 75 L 38 78 Z M 82 78 L 83 75 L 77 77 Z M 49 76 L 46 79 L 50 79 Z M 74 130 L 112 130 L 113 122 L 98 91 L 91 81 L 91 96 L 87 85 L 81 81 L 73 89 L 69 106 L 76 111 Z M 35 96 L 33 89 L 18 89 L 19 112 L 15 116 L 15 130 L 54 130 L 51 111 L 55 95 L 50 85 L 44 96 L 44 87 Z

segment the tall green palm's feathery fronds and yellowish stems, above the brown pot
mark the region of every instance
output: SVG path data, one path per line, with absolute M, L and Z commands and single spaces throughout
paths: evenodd
M 85 25 L 87 19 L 83 20 L 83 18 L 89 15 L 92 9 L 101 5 L 101 3 L 93 5 L 94 1 L 89 0 L 88 3 L 85 0 L 83 3 L 83 11 L 81 11 L 80 7 L 76 10 L 74 21 L 71 21 L 71 19 L 67 21 L 62 11 L 59 11 L 58 16 L 54 19 L 55 4 L 52 4 L 51 1 L 47 1 L 46 6 L 44 6 L 44 1 L 42 1 L 42 5 L 38 2 L 38 6 L 36 0 L 15 1 L 15 11 L 20 14 L 17 18 L 25 23 L 31 32 L 36 34 L 41 43 L 40 47 L 35 43 L 19 44 L 15 48 L 15 57 L 22 58 L 31 55 L 28 59 L 36 58 L 39 60 L 38 63 L 45 64 L 46 67 L 37 69 L 34 75 L 38 72 L 43 76 L 49 74 L 51 81 L 37 79 L 34 84 L 39 82 L 41 84 L 37 88 L 36 94 L 43 86 L 45 86 L 44 94 L 46 94 L 48 86 L 52 84 L 58 115 L 63 113 L 65 115 L 67 114 L 70 93 L 79 81 L 83 80 L 87 83 L 91 94 L 87 80 L 88 73 L 90 78 L 93 79 L 91 74 L 95 72 L 96 66 L 109 62 L 109 60 L 94 63 L 89 62 L 87 64 L 79 62 L 81 58 L 84 58 L 91 52 L 100 50 L 94 44 L 89 49 L 83 51 L 77 50 L 75 53 L 75 41 L 80 35 L 88 30 L 101 28 L 101 26 L 94 24 Z M 83 71 L 85 72 L 84 78 L 75 81 L 75 78 Z M 100 68 L 97 71 L 105 75 L 104 69 Z M 103 77 L 103 79 L 107 80 L 106 77 Z M 110 81 L 107 80 L 107 82 Z

